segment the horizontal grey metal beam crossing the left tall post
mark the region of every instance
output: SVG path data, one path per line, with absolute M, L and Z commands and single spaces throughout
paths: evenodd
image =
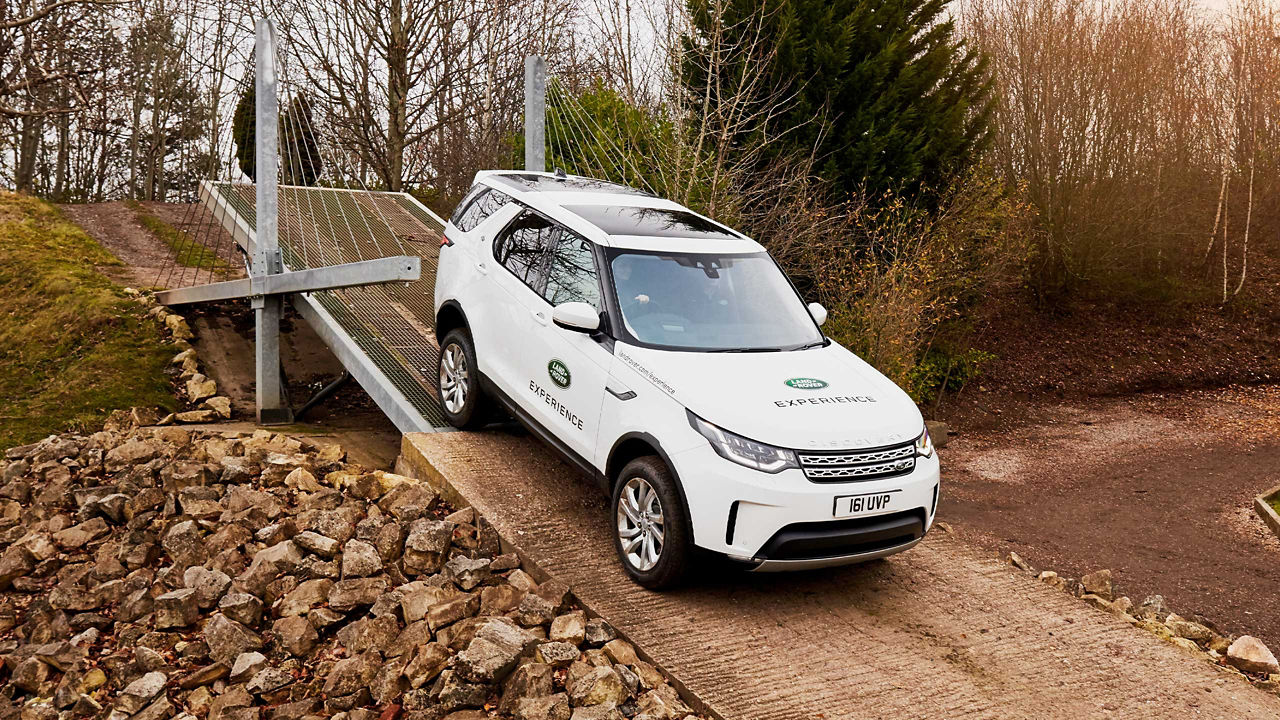
M 422 259 L 413 255 L 379 258 L 361 263 L 325 265 L 306 270 L 253 275 L 238 281 L 163 290 L 156 293 L 161 305 L 212 302 L 237 297 L 262 297 L 291 292 L 339 290 L 364 284 L 413 282 L 422 275 Z

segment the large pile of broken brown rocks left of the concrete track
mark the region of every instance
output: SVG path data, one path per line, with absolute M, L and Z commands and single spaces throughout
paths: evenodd
M 0 717 L 691 712 L 472 510 L 337 446 L 160 427 L 5 457 Z

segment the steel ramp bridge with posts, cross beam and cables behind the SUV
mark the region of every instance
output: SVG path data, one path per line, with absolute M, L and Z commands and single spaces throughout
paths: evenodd
M 540 68 L 535 87 L 545 92 L 540 63 L 535 63 Z M 433 307 L 444 220 L 404 192 L 280 184 L 280 177 L 306 177 L 297 138 L 314 137 L 315 131 L 300 127 L 300 122 L 310 124 L 310 113 L 301 120 L 298 113 L 279 113 L 275 32 L 269 20 L 257 23 L 255 64 L 256 168 L 273 172 L 257 173 L 256 183 L 200 183 L 201 211 L 212 219 L 205 225 L 220 225 L 234 240 L 247 260 L 248 277 L 170 287 L 156 299 L 164 305 L 250 299 L 260 424 L 293 421 L 279 355 L 279 323 L 288 296 L 401 432 L 445 429 L 434 382 L 439 348 Z M 279 135 L 293 150 L 279 152 Z M 228 167 L 233 167 L 230 159 Z M 329 184 L 346 183 L 330 179 Z M 196 234 L 186 242 L 200 243 Z M 214 264 L 228 266 L 220 250 L 212 249 L 210 281 Z M 180 249 L 174 263 L 179 255 Z M 195 282 L 200 273 L 197 268 Z M 179 275 L 177 284 L 184 278 Z

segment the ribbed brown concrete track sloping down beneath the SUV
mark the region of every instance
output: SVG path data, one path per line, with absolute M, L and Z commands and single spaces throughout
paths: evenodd
M 1280 717 L 1280 698 L 941 532 L 868 565 L 713 571 L 659 594 L 623 575 L 599 491 L 526 437 L 410 434 L 401 466 L 460 493 L 722 717 Z

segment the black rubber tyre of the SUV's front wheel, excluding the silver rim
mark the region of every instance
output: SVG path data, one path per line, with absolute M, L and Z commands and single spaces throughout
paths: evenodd
M 620 516 L 620 512 L 627 516 L 627 521 L 630 521 L 631 515 L 621 510 L 620 503 L 627 502 L 623 500 L 625 492 L 631 498 L 636 497 L 635 493 L 631 493 L 631 489 L 639 486 L 632 486 L 632 480 L 644 480 L 657 495 L 657 500 L 660 503 L 663 520 L 660 524 L 662 548 L 658 552 L 657 562 L 648 568 L 637 566 L 637 559 L 635 557 L 637 553 L 634 550 L 628 553 L 623 547 L 622 534 L 625 521 Z M 632 511 L 635 510 L 634 505 L 628 505 L 628 507 Z M 613 528 L 613 548 L 617 551 L 618 561 L 622 562 L 622 568 L 631 575 L 631 579 L 649 589 L 669 589 L 685 580 L 692 562 L 692 528 L 689 523 L 689 514 L 685 511 L 680 487 L 677 487 L 671 469 L 667 468 L 667 464 L 660 457 L 655 455 L 637 457 L 622 468 L 622 471 L 618 473 L 613 483 L 613 497 L 609 502 L 609 521 Z M 639 561 L 645 562 L 643 557 Z

